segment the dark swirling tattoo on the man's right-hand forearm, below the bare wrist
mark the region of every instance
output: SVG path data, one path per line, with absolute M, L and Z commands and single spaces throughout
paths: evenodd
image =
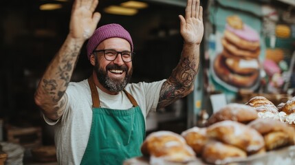
M 175 100 L 189 94 L 196 74 L 195 59 L 190 61 L 189 58 L 182 58 L 177 67 L 173 69 L 171 76 L 162 85 L 158 107 L 166 107 Z

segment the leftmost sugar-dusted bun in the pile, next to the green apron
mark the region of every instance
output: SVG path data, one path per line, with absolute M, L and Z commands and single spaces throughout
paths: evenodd
M 144 140 L 141 151 L 150 157 L 151 164 L 157 162 L 184 163 L 196 159 L 195 152 L 186 144 L 184 137 L 171 131 L 151 133 Z

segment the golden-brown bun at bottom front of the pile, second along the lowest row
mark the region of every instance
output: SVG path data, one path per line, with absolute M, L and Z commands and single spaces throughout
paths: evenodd
M 237 159 L 245 159 L 247 153 L 235 146 L 212 141 L 204 146 L 201 157 L 210 164 L 228 164 Z

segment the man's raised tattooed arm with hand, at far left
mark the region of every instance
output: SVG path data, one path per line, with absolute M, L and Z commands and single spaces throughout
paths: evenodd
M 63 115 L 65 90 L 72 77 L 83 43 L 94 33 L 100 13 L 94 12 L 98 0 L 76 0 L 72 8 L 69 34 L 61 49 L 47 67 L 35 93 L 35 102 L 52 120 Z

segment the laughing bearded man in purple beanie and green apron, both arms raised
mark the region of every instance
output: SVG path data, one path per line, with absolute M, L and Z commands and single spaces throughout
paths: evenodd
M 199 0 L 188 0 L 179 16 L 182 56 L 168 79 L 129 83 L 133 42 L 127 30 L 112 23 L 95 30 L 98 0 L 76 0 L 69 34 L 36 89 L 35 102 L 45 121 L 55 125 L 58 164 L 122 164 L 140 156 L 149 111 L 165 107 L 193 91 L 204 33 Z M 93 13 L 94 12 L 94 13 Z M 69 83 L 78 54 L 87 41 L 94 72 Z

